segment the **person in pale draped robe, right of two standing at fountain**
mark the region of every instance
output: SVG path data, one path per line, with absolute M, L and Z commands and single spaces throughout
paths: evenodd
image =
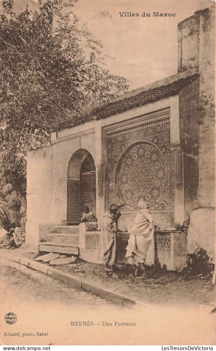
M 154 264 L 154 220 L 146 201 L 140 200 L 137 204 L 138 212 L 128 224 L 130 234 L 126 247 L 128 263 L 135 267 L 134 276 L 142 270 L 142 278 L 147 278 L 146 265 Z

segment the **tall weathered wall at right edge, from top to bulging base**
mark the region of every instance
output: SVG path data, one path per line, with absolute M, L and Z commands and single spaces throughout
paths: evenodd
M 180 93 L 188 252 L 203 247 L 215 260 L 215 5 L 178 24 L 178 45 L 178 72 L 197 67 L 200 75 L 195 95 L 197 82 Z

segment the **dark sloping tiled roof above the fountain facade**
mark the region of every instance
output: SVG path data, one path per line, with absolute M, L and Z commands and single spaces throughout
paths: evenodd
M 199 77 L 198 73 L 190 75 L 186 78 L 177 79 L 169 84 L 164 84 L 159 87 L 149 89 L 147 91 L 142 91 L 136 95 L 123 98 L 121 100 L 115 100 L 106 105 L 95 108 L 88 116 L 83 117 L 79 120 L 67 122 L 60 126 L 60 129 L 71 128 L 90 120 L 98 120 L 112 116 L 116 113 L 124 112 L 130 110 L 134 107 L 139 107 L 142 105 L 149 104 L 150 102 L 155 102 L 169 96 L 176 95 L 183 87 L 189 85 L 195 79 Z M 127 94 L 126 94 L 127 95 Z

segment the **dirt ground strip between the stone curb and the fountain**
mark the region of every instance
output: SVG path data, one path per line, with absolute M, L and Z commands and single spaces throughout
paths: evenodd
M 31 259 L 38 256 L 22 248 L 7 251 L 10 254 L 13 252 L 14 255 Z M 142 302 L 215 306 L 215 285 L 211 283 L 212 273 L 207 276 L 197 274 L 188 277 L 185 273 L 157 270 L 150 271 L 149 278 L 142 280 L 141 277 L 133 276 L 134 270 L 130 266 L 116 267 L 112 277 L 107 276 L 102 265 L 79 259 L 74 264 L 53 267 Z

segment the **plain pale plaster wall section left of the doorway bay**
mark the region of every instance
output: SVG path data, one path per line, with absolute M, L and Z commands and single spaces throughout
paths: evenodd
M 38 250 L 39 224 L 54 222 L 52 146 L 28 153 L 26 244 Z

